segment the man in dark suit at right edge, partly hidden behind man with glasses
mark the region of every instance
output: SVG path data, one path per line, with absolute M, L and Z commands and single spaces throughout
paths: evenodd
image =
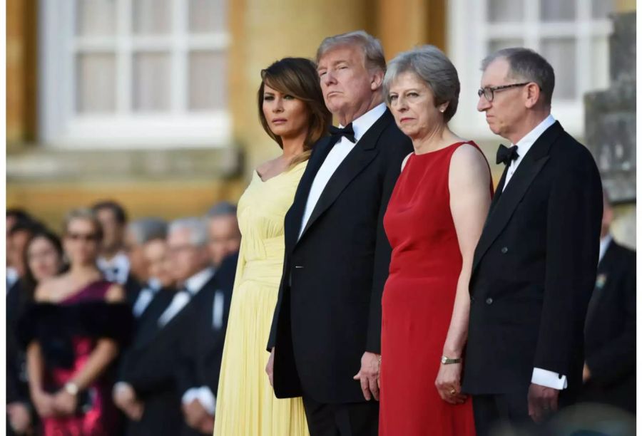
M 581 400 L 636 412 L 636 252 L 616 243 L 604 195 L 600 263 L 584 329 Z

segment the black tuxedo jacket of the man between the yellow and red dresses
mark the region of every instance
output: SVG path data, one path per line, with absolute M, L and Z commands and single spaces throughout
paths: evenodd
M 389 110 L 370 127 L 327 182 L 299 239 L 315 175 L 335 144 L 313 148 L 285 215 L 285 261 L 268 350 L 275 346 L 277 398 L 363 401 L 365 351 L 379 353 L 381 296 L 391 248 L 383 216 L 412 142 Z

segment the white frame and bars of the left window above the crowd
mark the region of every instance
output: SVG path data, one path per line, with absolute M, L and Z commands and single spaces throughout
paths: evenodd
M 116 26 L 131 31 L 131 0 L 116 1 Z M 230 45 L 228 33 L 188 35 L 188 2 L 171 0 L 172 36 L 126 36 L 116 39 L 116 113 L 74 113 L 74 56 L 78 50 L 113 50 L 109 38 L 74 36 L 72 0 L 39 1 L 39 133 L 51 147 L 65 149 L 115 149 L 158 147 L 228 147 L 231 119 L 228 110 L 188 112 L 188 87 L 172 86 L 168 113 L 136 113 L 131 110 L 132 53 L 138 49 L 163 50 L 170 41 L 171 81 L 186 83 L 190 50 L 223 50 Z M 180 27 L 179 27 L 180 26 Z M 119 73 L 119 68 L 122 73 Z M 128 78 L 128 80 L 127 80 Z

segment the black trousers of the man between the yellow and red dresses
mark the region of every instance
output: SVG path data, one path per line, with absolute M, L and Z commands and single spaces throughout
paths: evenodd
M 379 402 L 325 404 L 303 395 L 310 436 L 377 436 Z

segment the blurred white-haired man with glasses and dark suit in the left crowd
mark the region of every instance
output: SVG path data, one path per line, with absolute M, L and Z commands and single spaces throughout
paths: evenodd
M 207 232 L 202 219 L 178 219 L 168 230 L 171 271 L 179 291 L 155 299 L 123 357 L 115 403 L 128 415 L 127 434 L 179 435 L 188 427 L 181 414 L 182 392 L 176 383 L 178 350 L 200 335 L 195 308 L 211 301 L 218 289 L 209 266 Z M 160 296 L 161 294 L 159 294 Z

